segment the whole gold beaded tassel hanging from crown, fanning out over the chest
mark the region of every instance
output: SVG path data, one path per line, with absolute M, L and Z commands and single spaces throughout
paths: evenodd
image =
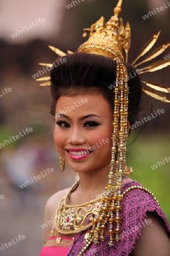
M 99 238 L 104 241 L 104 232 L 109 223 L 109 246 L 113 245 L 113 235 L 116 241 L 120 234 L 120 201 L 122 199 L 121 187 L 123 170 L 126 164 L 126 142 L 128 139 L 128 72 L 126 67 L 117 61 L 116 87 L 114 89 L 114 113 L 113 113 L 113 134 L 112 134 L 112 160 L 108 175 L 108 184 L 105 188 L 101 207 L 96 218 L 92 221 L 92 230 L 88 232 L 83 250 L 79 253 L 83 255 L 92 242 L 99 243 Z M 113 174 L 113 168 L 116 172 Z M 114 217 L 115 216 L 115 217 Z M 116 229 L 113 230 L 113 223 L 116 222 Z

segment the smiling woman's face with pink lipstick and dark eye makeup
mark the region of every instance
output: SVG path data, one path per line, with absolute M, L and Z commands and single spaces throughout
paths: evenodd
M 112 118 L 111 108 L 99 92 L 59 98 L 54 142 L 74 171 L 95 171 L 109 165 Z

